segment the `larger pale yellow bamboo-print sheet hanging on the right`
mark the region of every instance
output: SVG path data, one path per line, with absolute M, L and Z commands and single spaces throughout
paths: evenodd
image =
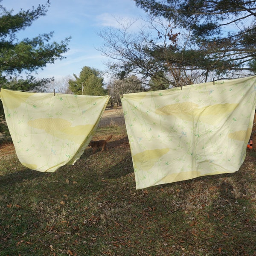
M 256 76 L 123 95 L 136 188 L 239 170 L 255 104 Z

